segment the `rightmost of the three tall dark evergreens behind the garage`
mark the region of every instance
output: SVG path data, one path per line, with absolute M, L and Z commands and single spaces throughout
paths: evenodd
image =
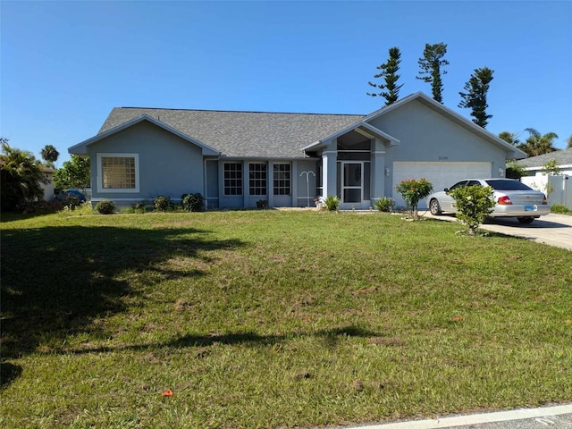
M 486 65 L 482 69 L 475 69 L 475 73 L 471 74 L 470 79 L 465 84 L 465 91 L 459 92 L 461 101 L 459 107 L 466 107 L 472 109 L 471 116 L 473 122 L 486 128 L 492 114 L 486 114 L 486 109 L 489 105 L 486 103 L 486 95 L 489 92 L 492 78 L 492 71 Z

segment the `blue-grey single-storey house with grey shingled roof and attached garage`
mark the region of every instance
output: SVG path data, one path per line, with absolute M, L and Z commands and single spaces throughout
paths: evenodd
M 526 156 L 420 92 L 366 116 L 118 107 L 68 150 L 91 159 L 94 203 L 198 192 L 207 208 L 314 206 L 330 195 L 342 209 L 382 197 L 404 206 L 404 179 L 442 189 L 503 177 L 507 159 Z

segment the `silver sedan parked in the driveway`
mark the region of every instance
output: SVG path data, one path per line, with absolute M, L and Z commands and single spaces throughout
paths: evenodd
M 450 197 L 451 190 L 465 186 L 490 186 L 496 205 L 490 217 L 516 217 L 520 223 L 531 223 L 543 214 L 551 212 L 543 192 L 532 189 L 520 181 L 512 179 L 465 179 L 450 188 L 433 192 L 427 197 L 429 211 L 433 215 L 442 212 L 456 213 L 455 199 Z

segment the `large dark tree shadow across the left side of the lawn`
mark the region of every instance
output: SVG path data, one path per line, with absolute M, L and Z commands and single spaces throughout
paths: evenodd
M 94 318 L 121 312 L 122 299 L 156 282 L 203 275 L 194 266 L 165 268 L 173 257 L 209 263 L 209 251 L 243 243 L 209 240 L 208 231 L 187 228 L 74 226 L 6 230 L 1 245 L 4 361 L 91 330 Z

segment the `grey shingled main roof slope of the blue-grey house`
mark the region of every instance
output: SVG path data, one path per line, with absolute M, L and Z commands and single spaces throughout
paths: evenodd
M 297 158 L 302 147 L 361 121 L 361 114 L 280 114 L 115 107 L 98 134 L 147 114 L 231 157 Z

